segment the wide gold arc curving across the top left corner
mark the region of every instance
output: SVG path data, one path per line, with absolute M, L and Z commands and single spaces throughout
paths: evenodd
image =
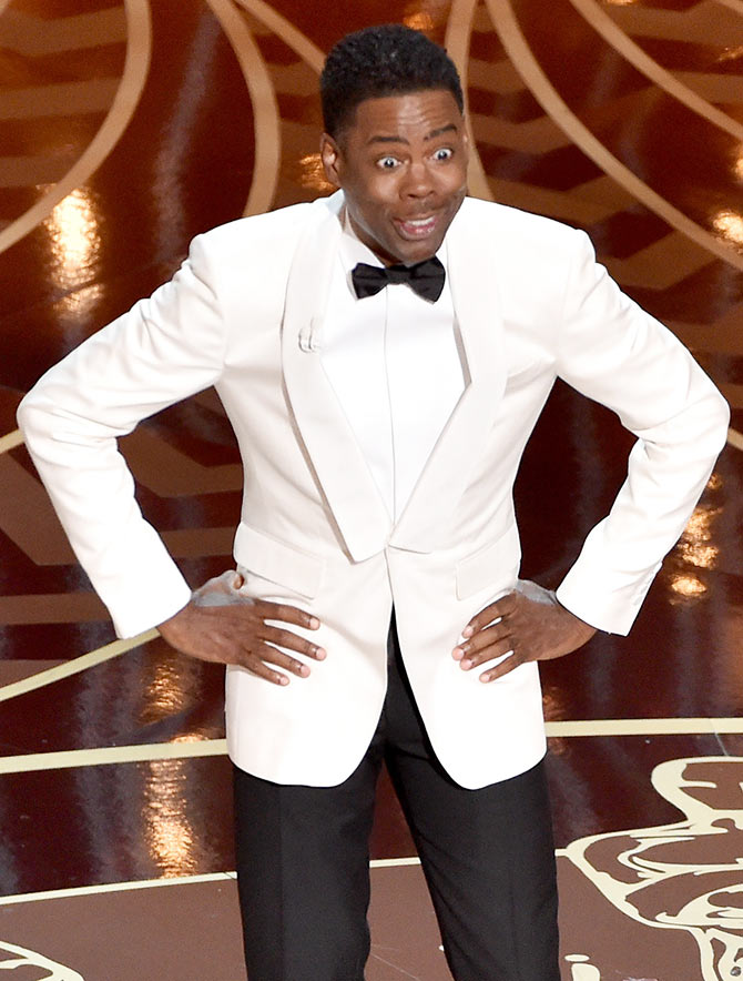
M 142 95 L 152 55 L 152 26 L 147 0 L 124 0 L 126 9 L 126 60 L 111 109 L 82 156 L 48 194 L 0 232 L 0 252 L 43 221 L 75 188 L 83 184 L 111 153 L 129 125 Z

